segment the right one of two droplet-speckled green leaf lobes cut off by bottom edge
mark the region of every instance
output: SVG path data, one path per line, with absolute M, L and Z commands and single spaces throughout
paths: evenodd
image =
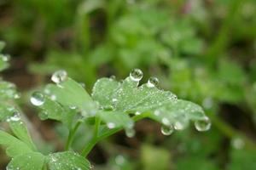
M 50 154 L 47 162 L 49 170 L 90 169 L 89 161 L 71 151 Z

